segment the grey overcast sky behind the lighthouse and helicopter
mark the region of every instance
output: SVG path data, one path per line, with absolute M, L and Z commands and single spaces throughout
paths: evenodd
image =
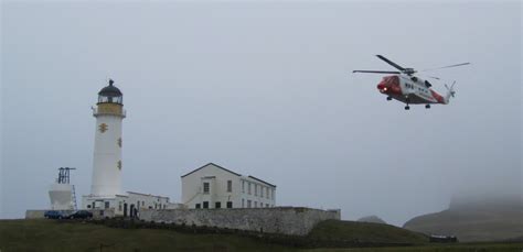
M 403 224 L 452 196 L 522 195 L 522 7 L 492 2 L 3 1 L 1 213 L 49 207 L 61 166 L 90 189 L 106 78 L 124 92 L 124 189 L 180 200 L 213 162 L 277 204 Z M 376 90 L 383 54 L 457 80 L 405 111 Z M 435 89 L 445 92 L 442 85 Z

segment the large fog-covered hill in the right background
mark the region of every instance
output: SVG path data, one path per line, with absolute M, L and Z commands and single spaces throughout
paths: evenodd
M 511 240 L 523 233 L 523 207 L 514 201 L 455 201 L 447 210 L 410 219 L 404 228 L 465 242 Z

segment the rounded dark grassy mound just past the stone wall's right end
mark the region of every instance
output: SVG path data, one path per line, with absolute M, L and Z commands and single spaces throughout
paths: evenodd
M 412 243 L 428 242 L 428 237 L 391 224 L 327 220 L 320 222 L 310 233 L 310 238 L 325 240 L 357 240 L 360 242 Z

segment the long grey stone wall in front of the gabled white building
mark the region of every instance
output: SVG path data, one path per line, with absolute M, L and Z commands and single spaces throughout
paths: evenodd
M 340 210 L 300 207 L 234 209 L 142 209 L 146 221 L 306 235 L 320 221 L 340 219 Z

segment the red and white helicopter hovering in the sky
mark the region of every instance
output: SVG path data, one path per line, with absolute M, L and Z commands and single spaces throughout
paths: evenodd
M 381 94 L 386 95 L 387 100 L 396 99 L 406 103 L 405 110 L 410 109 L 409 105 L 425 105 L 426 109 L 429 109 L 433 103 L 448 105 L 450 98 L 456 94 L 453 90 L 456 81 L 450 86 L 450 88 L 445 85 L 447 88 L 447 95 L 444 97 L 430 88 L 433 85 L 428 80 L 414 76 L 414 74 L 417 73 L 415 69 L 404 68 L 382 55 L 376 56 L 398 70 L 353 70 L 352 73 L 394 74 L 383 77 L 382 81 L 377 85 L 377 90 L 380 90 Z M 427 70 L 469 64 L 470 63 L 461 63 Z M 438 77 L 431 78 L 439 79 Z

